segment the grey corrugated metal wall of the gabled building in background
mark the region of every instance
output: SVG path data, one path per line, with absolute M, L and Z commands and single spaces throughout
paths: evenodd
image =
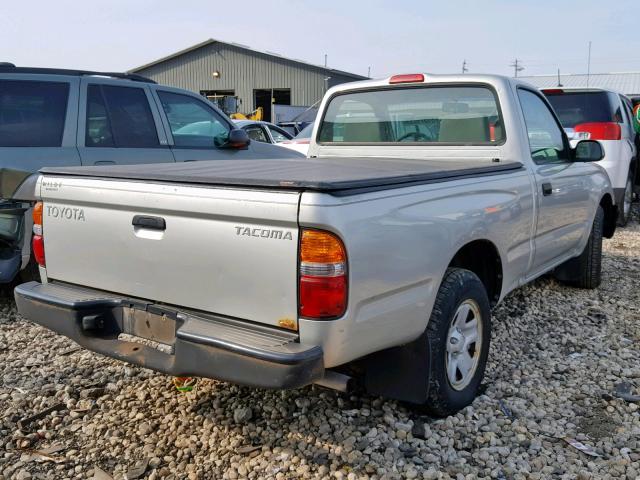
M 214 78 L 212 72 L 220 72 Z M 247 51 L 225 43 L 205 45 L 197 50 L 151 67 L 136 70 L 158 83 L 201 90 L 234 90 L 242 100 L 241 110 L 255 108 L 255 89 L 288 88 L 292 105 L 313 105 L 327 87 L 354 78 L 327 73 L 320 67 L 300 65 L 286 58 Z M 328 81 L 325 79 L 331 75 Z

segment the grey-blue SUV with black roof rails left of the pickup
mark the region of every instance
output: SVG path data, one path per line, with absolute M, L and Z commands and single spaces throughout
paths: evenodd
M 200 95 L 139 75 L 1 65 L 0 284 L 29 266 L 38 169 L 283 156 L 234 128 Z

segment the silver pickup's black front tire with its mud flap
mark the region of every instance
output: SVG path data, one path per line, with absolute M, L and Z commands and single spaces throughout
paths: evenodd
M 597 288 L 602 281 L 602 232 L 604 210 L 596 210 L 589 241 L 580 256 L 566 261 L 556 269 L 558 280 L 577 288 Z

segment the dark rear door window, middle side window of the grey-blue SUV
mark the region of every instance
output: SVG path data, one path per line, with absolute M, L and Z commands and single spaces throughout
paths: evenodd
M 89 85 L 87 147 L 159 147 L 158 132 L 142 88 Z

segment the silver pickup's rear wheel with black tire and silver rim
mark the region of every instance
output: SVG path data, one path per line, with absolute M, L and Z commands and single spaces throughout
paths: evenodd
M 425 409 L 436 416 L 469 405 L 484 377 L 491 309 L 478 276 L 462 268 L 445 273 L 427 326 L 429 390 Z

